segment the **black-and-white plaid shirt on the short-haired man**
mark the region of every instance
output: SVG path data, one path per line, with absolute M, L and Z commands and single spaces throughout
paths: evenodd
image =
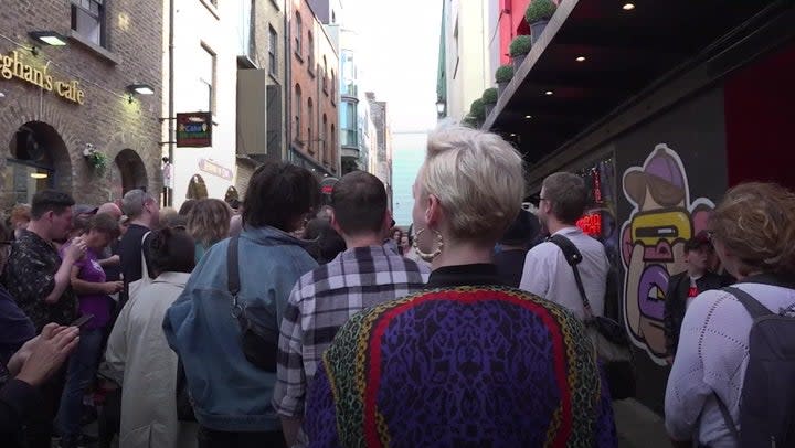
M 423 289 L 428 269 L 384 246 L 357 247 L 305 274 L 282 320 L 273 406 L 304 416 L 307 384 L 337 331 L 357 312 Z

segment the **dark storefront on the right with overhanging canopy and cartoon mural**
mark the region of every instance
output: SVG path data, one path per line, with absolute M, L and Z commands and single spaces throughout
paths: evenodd
M 731 185 L 795 188 L 795 6 L 616 4 L 562 2 L 484 127 L 516 135 L 531 193 L 562 170 L 592 186 L 580 224 L 613 264 L 606 312 L 637 349 L 638 399 L 661 413 L 664 296 L 685 241 Z

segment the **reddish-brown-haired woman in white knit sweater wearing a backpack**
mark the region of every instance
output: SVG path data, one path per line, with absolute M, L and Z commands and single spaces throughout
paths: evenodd
M 762 429 L 765 424 L 760 423 L 774 420 L 767 413 L 783 415 L 780 406 L 755 409 L 755 423 L 760 425 L 743 425 L 735 434 L 741 393 L 745 394 L 749 386 L 767 387 L 745 381 L 754 319 L 740 300 L 746 302 L 750 296 L 751 302 L 770 313 L 795 312 L 795 193 L 772 183 L 734 186 L 714 210 L 709 226 L 718 257 L 738 279 L 733 285 L 736 289 L 704 291 L 690 303 L 668 377 L 666 427 L 680 446 L 689 447 L 693 437 L 700 446 L 770 446 L 771 436 L 781 435 L 765 434 L 762 442 L 746 437 Z M 781 385 L 765 392 L 793 403 L 795 388 L 788 383 L 789 392 Z M 721 406 L 731 420 L 724 418 Z M 791 404 L 788 409 L 792 413 L 795 407 Z M 793 414 L 789 417 L 788 434 L 793 437 Z M 782 447 L 793 442 L 782 437 L 776 441 Z

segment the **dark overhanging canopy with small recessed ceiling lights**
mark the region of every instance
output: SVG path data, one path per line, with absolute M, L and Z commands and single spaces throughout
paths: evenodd
M 484 129 L 516 139 L 532 166 L 688 64 L 794 9 L 786 0 L 638 0 L 630 10 L 626 3 L 563 0 Z M 760 51 L 749 49 L 746 57 Z

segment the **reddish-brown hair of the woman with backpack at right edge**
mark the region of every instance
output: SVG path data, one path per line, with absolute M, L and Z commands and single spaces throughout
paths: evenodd
M 714 238 L 742 263 L 740 274 L 795 275 L 795 193 L 774 183 L 730 189 L 710 220 Z

